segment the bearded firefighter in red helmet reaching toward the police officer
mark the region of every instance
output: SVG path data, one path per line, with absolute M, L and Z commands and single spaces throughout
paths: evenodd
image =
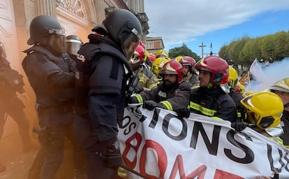
M 143 107 L 149 110 L 156 107 L 175 110 L 188 106 L 190 85 L 184 82 L 182 70 L 179 62 L 166 62 L 159 72 L 162 83 L 151 91 L 132 96 L 128 103 L 143 103 Z

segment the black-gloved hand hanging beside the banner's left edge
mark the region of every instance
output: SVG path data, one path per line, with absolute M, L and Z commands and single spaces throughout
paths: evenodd
M 106 147 L 106 167 L 116 170 L 122 163 L 119 142 L 115 141 Z

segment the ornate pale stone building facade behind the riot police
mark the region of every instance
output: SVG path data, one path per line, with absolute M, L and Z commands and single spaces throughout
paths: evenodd
M 8 61 L 24 76 L 30 100 L 24 101 L 29 118 L 34 118 L 34 92 L 22 70 L 22 50 L 29 48 L 29 25 L 37 15 L 56 17 L 66 29 L 66 35 L 75 34 L 87 42 L 91 29 L 101 24 L 105 15 L 115 8 L 131 10 L 142 23 L 145 36 L 149 34 L 144 0 L 0 0 L 0 41 L 5 45 Z M 1 89 L 0 89 L 1 92 Z

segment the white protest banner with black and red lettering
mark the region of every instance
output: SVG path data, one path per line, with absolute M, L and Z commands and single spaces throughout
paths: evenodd
M 140 104 L 128 106 L 119 127 L 124 163 L 147 178 L 289 178 L 286 148 L 248 127 L 191 113 L 188 118 Z M 130 178 L 138 178 L 130 174 Z

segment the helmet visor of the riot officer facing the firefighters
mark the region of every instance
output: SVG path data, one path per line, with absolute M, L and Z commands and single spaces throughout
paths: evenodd
M 136 29 L 132 29 L 131 33 L 124 39 L 121 44 L 122 49 L 124 50 L 124 55 L 126 59 L 131 59 L 133 57 L 133 52 L 138 47 L 140 43 L 141 34 L 138 33 Z

